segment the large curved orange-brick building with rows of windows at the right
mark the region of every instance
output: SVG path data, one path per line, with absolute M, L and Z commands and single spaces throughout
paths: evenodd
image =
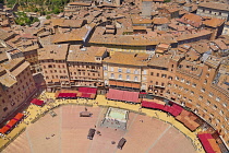
M 224 122 L 228 121 L 228 90 L 215 83 L 218 75 L 220 59 L 209 56 L 204 63 L 182 60 L 178 62 L 176 76 L 171 87 L 171 99 L 191 108 L 206 122 L 220 131 L 228 141 L 228 130 Z M 227 84 L 228 75 L 225 75 Z

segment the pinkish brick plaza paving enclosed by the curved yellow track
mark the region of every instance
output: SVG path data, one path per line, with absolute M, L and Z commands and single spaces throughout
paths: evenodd
M 128 129 L 100 127 L 106 108 L 87 107 L 92 117 L 80 117 L 85 106 L 67 105 L 47 114 L 15 139 L 3 153 L 194 153 L 189 139 L 171 125 L 138 114 L 129 114 Z M 143 120 L 143 121 L 142 121 Z M 89 128 L 100 131 L 87 139 Z M 117 149 L 121 138 L 122 150 Z M 116 144 L 111 144 L 116 141 Z

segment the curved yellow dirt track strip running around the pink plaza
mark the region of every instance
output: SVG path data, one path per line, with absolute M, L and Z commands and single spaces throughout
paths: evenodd
M 40 99 L 47 99 L 47 98 L 55 98 L 55 93 L 44 93 L 38 98 Z M 73 105 L 88 105 L 88 106 L 111 106 L 111 107 L 118 107 L 123 109 L 129 109 L 135 113 L 142 113 L 149 117 L 157 118 L 159 120 L 162 120 L 165 122 L 170 123 L 172 127 L 177 128 L 179 131 L 181 131 L 188 139 L 192 141 L 192 144 L 196 149 L 196 152 L 204 153 L 204 150 L 202 148 L 201 142 L 196 138 L 195 132 L 191 132 L 189 129 L 186 129 L 182 123 L 177 121 L 173 117 L 167 116 L 166 113 L 159 111 L 159 110 L 152 110 L 142 108 L 141 105 L 131 105 L 122 102 L 114 102 L 114 101 L 107 101 L 104 95 L 97 95 L 96 99 L 56 99 L 55 103 L 48 103 L 44 107 L 38 107 L 35 105 L 29 105 L 29 107 L 25 110 L 28 114 L 28 117 L 24 119 L 22 123 L 20 123 L 16 128 L 14 128 L 4 139 L 0 139 L 0 148 L 3 148 L 4 145 L 8 145 L 11 139 L 16 138 L 22 130 L 24 130 L 27 126 L 38 120 L 41 116 L 44 116 L 46 113 L 48 113 L 50 109 L 55 107 L 59 107 L 61 105 L 67 104 L 73 104 Z

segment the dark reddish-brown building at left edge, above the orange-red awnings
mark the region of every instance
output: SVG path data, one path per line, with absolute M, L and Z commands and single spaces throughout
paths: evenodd
M 0 121 L 14 113 L 36 92 L 29 63 L 24 58 L 0 66 Z

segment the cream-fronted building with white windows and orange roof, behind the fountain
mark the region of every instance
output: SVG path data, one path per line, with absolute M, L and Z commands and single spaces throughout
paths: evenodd
M 142 84 L 143 67 L 147 66 L 146 54 L 114 52 L 103 61 L 105 86 L 130 91 L 146 90 Z M 146 78 L 144 78 L 146 82 Z

